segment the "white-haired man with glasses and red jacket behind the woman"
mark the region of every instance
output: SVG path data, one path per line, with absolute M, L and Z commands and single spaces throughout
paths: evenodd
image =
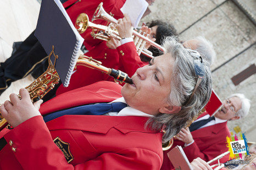
M 182 128 L 175 136 L 172 148 L 177 145 L 183 146 L 189 161 L 197 157 L 209 161 L 227 151 L 226 137 L 230 137 L 227 121 L 245 117 L 251 105 L 243 94 L 232 94 L 222 104 L 221 109 L 214 116 L 210 117 L 205 111 L 189 128 Z M 173 167 L 166 155 L 170 150 L 164 151 L 164 163 L 161 169 Z M 226 159 L 228 157 L 221 158 L 220 162 L 228 161 Z

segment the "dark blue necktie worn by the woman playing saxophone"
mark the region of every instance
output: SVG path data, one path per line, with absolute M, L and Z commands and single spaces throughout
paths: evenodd
M 44 116 L 43 120 L 44 122 L 48 122 L 63 115 L 104 115 L 108 112 L 119 112 L 124 109 L 124 107 L 127 107 L 127 104 L 122 102 L 84 105 L 53 112 L 52 114 Z

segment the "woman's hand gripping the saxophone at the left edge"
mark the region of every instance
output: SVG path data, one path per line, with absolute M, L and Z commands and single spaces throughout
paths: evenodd
M 41 115 L 38 110 L 43 100 L 38 100 L 33 104 L 25 88 L 20 89 L 20 96 L 21 99 L 14 93 L 10 94 L 10 101 L 5 101 L 0 107 L 2 116 L 12 127 L 18 126 L 31 117 Z

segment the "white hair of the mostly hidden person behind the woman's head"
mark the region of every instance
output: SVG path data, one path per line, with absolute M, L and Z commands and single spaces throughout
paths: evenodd
M 213 49 L 213 44 L 202 36 L 198 36 L 194 39 L 197 39 L 198 41 L 197 49 L 195 50 L 200 53 L 203 59 L 208 60 L 210 65 L 212 65 L 216 59 L 216 53 Z

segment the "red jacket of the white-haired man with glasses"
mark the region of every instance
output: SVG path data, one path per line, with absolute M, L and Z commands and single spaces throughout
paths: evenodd
M 202 158 L 204 161 L 209 161 L 228 150 L 226 147 L 226 137 L 230 137 L 230 131 L 227 127 L 227 122 L 204 127 L 191 132 L 191 134 L 193 136 L 194 143 L 183 148 L 188 161 L 190 162 L 197 157 Z M 174 144 L 171 149 L 177 145 L 183 147 L 184 143 L 180 140 L 174 140 Z M 164 151 L 164 162 L 161 167 L 162 170 L 174 168 L 167 156 L 167 153 L 171 149 Z M 227 158 L 228 157 L 221 158 L 220 162 L 223 163 L 228 161 Z

